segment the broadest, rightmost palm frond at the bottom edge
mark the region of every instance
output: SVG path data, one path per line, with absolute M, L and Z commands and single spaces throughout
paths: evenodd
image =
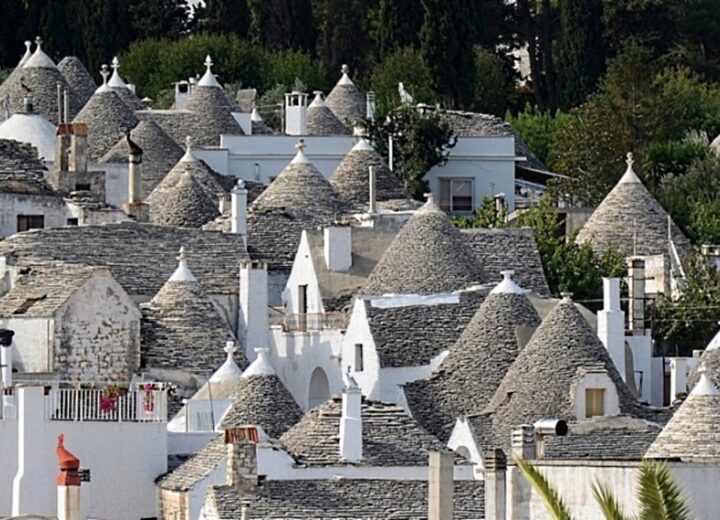
M 644 461 L 638 477 L 640 520 L 690 520 L 690 507 L 666 464 Z

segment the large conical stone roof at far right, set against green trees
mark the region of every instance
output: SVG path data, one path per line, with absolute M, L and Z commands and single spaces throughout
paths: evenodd
M 625 175 L 582 227 L 575 239 L 578 244 L 587 242 L 597 253 L 614 247 L 624 254 L 667 254 L 668 214 L 632 165 L 632 154 L 628 154 Z M 674 222 L 670 229 L 678 253 L 684 256 L 690 247 L 688 239 Z

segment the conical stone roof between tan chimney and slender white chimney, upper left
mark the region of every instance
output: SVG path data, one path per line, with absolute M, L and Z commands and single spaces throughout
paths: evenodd
M 188 149 L 148 195 L 150 221 L 176 227 L 201 227 L 217 217 L 218 195 L 225 192 L 205 163 Z

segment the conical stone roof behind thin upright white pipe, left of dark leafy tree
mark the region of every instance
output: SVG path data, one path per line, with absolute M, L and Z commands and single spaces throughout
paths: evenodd
M 340 161 L 330 177 L 330 184 L 355 207 L 361 210 L 367 209 L 370 166 L 375 173 L 376 201 L 412 199 L 403 182 L 388 168 L 385 160 L 365 139 L 361 139 Z

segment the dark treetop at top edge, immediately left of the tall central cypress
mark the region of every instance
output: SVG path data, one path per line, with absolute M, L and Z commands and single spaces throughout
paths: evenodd
M 418 47 L 422 24 L 420 0 L 380 0 L 371 31 L 378 58 L 384 60 L 403 47 Z

